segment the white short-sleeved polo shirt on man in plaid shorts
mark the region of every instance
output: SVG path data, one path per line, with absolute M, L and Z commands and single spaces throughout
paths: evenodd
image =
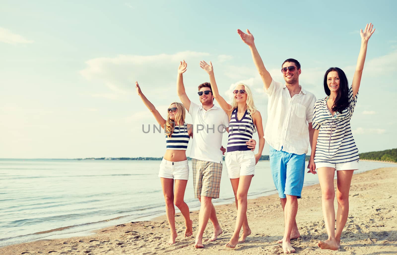
M 227 132 L 229 117 L 215 105 L 205 110 L 190 102 L 189 114 L 193 119 L 193 145 L 190 157 L 197 160 L 222 163 L 222 134 Z

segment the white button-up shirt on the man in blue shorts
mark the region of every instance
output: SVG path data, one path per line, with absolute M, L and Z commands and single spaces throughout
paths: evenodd
M 316 97 L 302 88 L 297 95 L 289 94 L 287 86 L 272 80 L 264 91 L 269 96 L 268 120 L 264 138 L 276 150 L 306 154 L 309 147 L 308 123 L 313 120 Z

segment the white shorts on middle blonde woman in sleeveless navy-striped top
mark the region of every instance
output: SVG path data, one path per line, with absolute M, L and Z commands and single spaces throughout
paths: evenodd
M 227 152 L 225 163 L 229 179 L 236 179 L 241 175 L 255 174 L 255 154 L 251 150 Z

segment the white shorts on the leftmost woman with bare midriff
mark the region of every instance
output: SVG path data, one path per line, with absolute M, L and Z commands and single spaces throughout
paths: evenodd
M 158 177 L 169 178 L 175 180 L 189 179 L 189 163 L 187 160 L 172 162 L 165 160 L 161 161 L 160 171 Z

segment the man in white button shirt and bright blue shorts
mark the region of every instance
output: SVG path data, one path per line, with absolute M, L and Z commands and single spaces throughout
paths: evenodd
M 287 59 L 281 65 L 285 84 L 275 82 L 266 70 L 254 44 L 254 36 L 237 30 L 241 39 L 251 49 L 252 59 L 269 96 L 268 120 L 264 138 L 270 145 L 270 168 L 274 184 L 284 210 L 284 236 L 279 240 L 284 253 L 294 253 L 291 239 L 300 236 L 295 217 L 301 198 L 305 156 L 313 139 L 313 108 L 316 97 L 299 85 L 301 65 L 295 59 Z

